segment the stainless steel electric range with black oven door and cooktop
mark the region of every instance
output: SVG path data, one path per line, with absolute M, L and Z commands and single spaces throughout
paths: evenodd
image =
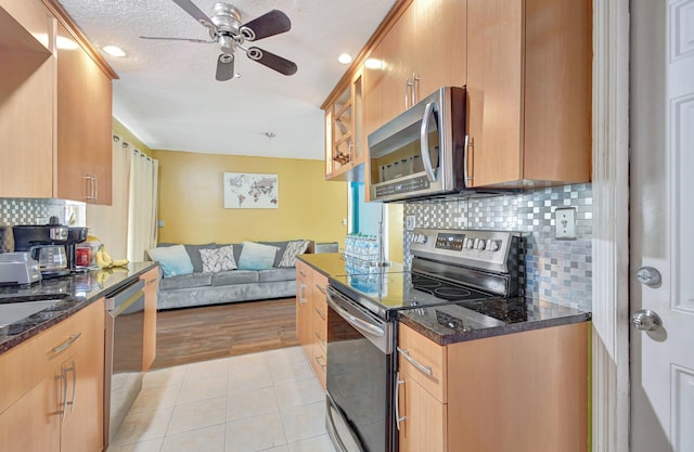
M 517 295 L 519 244 L 514 232 L 415 229 L 410 271 L 330 279 L 326 427 L 338 452 L 398 451 L 398 311 L 474 311 L 480 300 Z M 466 327 L 494 321 L 478 313 Z

